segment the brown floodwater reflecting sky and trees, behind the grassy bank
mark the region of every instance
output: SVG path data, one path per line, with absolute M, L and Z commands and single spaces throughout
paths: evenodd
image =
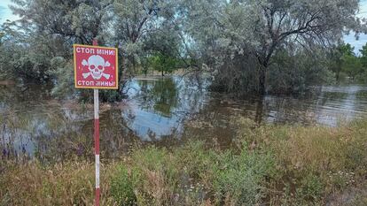
M 298 97 L 233 100 L 207 91 L 205 85 L 180 77 L 131 80 L 128 99 L 101 105 L 102 156 L 118 156 L 144 144 L 172 146 L 190 140 L 230 147 L 239 118 L 257 124 L 338 126 L 367 117 L 364 86 L 324 86 Z M 0 156 L 93 158 L 92 118 L 92 105 L 57 100 L 48 86 L 0 85 Z

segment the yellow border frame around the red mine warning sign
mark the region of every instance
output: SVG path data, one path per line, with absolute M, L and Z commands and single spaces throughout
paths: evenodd
M 114 73 L 114 80 L 115 80 L 115 86 L 114 87 L 101 87 L 101 86 L 78 86 L 76 81 L 76 71 L 77 71 L 77 65 L 76 65 L 76 47 L 86 47 L 86 48 L 93 48 L 93 49 L 107 49 L 107 50 L 114 50 L 115 53 L 115 61 L 116 65 L 114 67 L 115 73 Z M 118 89 L 119 88 L 119 53 L 117 48 L 113 47 L 101 47 L 101 46 L 92 46 L 92 45 L 84 45 L 84 44 L 73 44 L 73 59 L 74 59 L 74 88 L 97 88 L 97 89 Z

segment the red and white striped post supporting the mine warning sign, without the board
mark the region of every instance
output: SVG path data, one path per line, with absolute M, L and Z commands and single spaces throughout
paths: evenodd
M 98 46 L 97 39 L 93 40 L 93 46 Z M 96 200 L 95 205 L 99 206 L 99 100 L 98 88 L 94 88 L 94 151 L 96 155 Z

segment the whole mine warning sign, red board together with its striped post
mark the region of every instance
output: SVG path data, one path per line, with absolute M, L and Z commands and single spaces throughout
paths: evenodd
M 97 39 L 93 45 L 74 44 L 74 86 L 94 89 L 94 151 L 96 156 L 96 199 L 100 203 L 99 188 L 99 100 L 98 89 L 118 89 L 119 60 L 117 48 L 99 47 Z M 98 59 L 98 64 L 95 63 Z M 103 61 L 103 65 L 101 65 Z M 107 69 L 105 70 L 105 67 Z M 101 72 L 102 71 L 102 72 Z M 96 74 L 97 73 L 97 74 Z M 101 79 L 103 77 L 103 79 Z

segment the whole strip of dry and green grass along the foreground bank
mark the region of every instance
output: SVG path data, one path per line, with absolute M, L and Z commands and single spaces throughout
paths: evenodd
M 238 124 L 237 148 L 191 141 L 102 164 L 101 205 L 367 204 L 367 119 L 335 128 Z M 0 205 L 93 204 L 93 163 L 0 169 Z

